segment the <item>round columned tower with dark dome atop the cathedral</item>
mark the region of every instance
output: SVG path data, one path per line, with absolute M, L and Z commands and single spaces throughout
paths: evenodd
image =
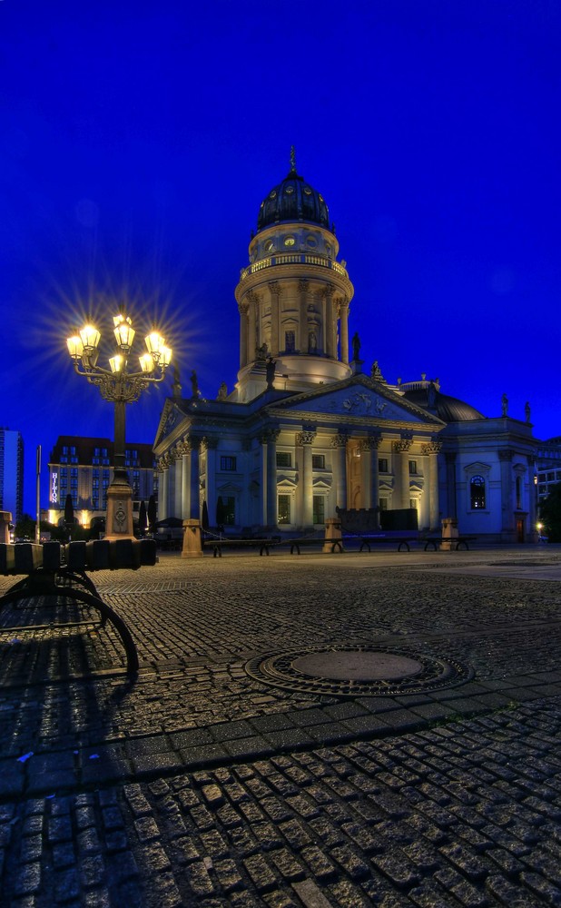
M 283 390 L 305 390 L 349 378 L 349 303 L 353 287 L 327 204 L 296 171 L 261 202 L 250 264 L 236 287 L 240 371 L 236 400 L 266 387 L 264 363 L 274 358 Z

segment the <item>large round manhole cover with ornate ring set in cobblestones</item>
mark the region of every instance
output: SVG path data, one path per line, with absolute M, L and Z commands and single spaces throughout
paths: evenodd
M 473 671 L 454 660 L 392 646 L 330 646 L 256 656 L 247 673 L 264 684 L 326 696 L 428 693 L 465 684 Z

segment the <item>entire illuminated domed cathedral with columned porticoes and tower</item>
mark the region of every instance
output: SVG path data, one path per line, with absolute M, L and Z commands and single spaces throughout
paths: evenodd
M 439 533 L 532 538 L 529 415 L 486 419 L 439 381 L 390 385 L 349 341 L 353 286 L 327 203 L 297 172 L 261 202 L 235 298 L 240 370 L 215 400 L 176 380 L 154 441 L 158 518 L 232 536 L 321 533 L 338 510 L 376 528 L 408 520 Z M 395 518 L 395 519 L 394 519 Z M 400 519 L 400 518 L 399 518 Z M 398 522 L 396 522 L 398 521 Z

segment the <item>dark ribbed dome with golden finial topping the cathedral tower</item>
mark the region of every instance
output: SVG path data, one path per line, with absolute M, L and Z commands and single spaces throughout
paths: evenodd
M 257 217 L 257 230 L 281 222 L 318 224 L 330 230 L 330 212 L 320 192 L 316 192 L 296 173 L 294 149 L 290 153 L 290 173 L 282 183 L 274 186 L 261 202 Z

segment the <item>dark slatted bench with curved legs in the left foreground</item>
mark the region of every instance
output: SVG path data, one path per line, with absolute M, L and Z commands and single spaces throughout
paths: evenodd
M 137 570 L 154 565 L 156 561 L 153 539 L 95 539 L 91 542 L 70 542 L 68 545 L 60 542 L 45 542 L 43 545 L 2 543 L 0 574 L 24 577 L 0 596 L 0 608 L 10 602 L 38 597 L 61 597 L 94 607 L 100 614 L 101 626 L 109 621 L 121 638 L 127 673 L 134 674 L 138 670 L 138 654 L 131 632 L 123 618 L 103 602 L 89 574 L 96 570 Z M 17 628 L 18 631 L 26 629 L 36 629 L 36 626 Z

